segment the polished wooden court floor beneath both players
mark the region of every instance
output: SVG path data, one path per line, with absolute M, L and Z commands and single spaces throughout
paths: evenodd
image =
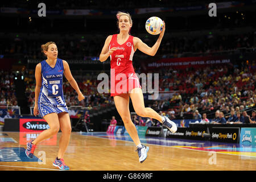
M 61 133 L 41 142 L 35 150 L 40 160 L 20 162 L 28 138 L 36 133 L 0 132 L 0 171 L 57 170 L 52 166 L 58 151 Z M 5 134 L 5 135 L 3 135 Z M 3 139 L 4 138 L 4 139 Z M 150 147 L 144 163 L 139 163 L 135 144 L 113 138 L 100 138 L 72 133 L 64 161 L 75 171 L 246 171 L 256 170 L 256 158 L 240 155 L 212 154 L 208 151 L 147 144 Z M 16 152 L 12 153 L 11 148 Z M 23 150 L 21 150 L 23 149 Z M 2 160 L 1 160 L 2 158 Z M 17 161 L 14 161 L 17 158 Z M 3 160 L 11 161 L 3 161 Z M 41 160 L 42 159 L 42 160 Z M 36 160 L 36 158 L 35 158 Z

